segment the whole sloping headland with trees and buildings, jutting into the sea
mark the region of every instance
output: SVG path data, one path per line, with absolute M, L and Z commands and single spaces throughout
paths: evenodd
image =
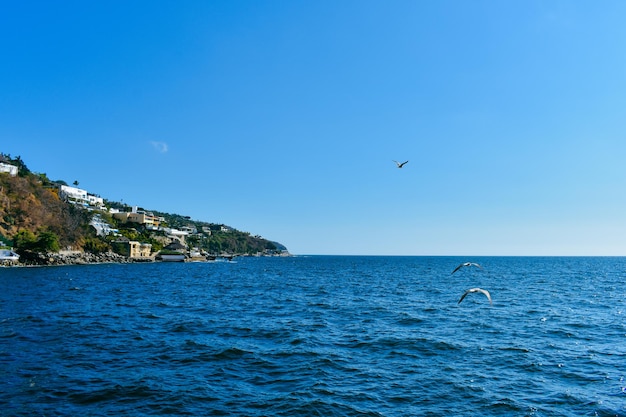
M 32 172 L 0 153 L 0 264 L 231 260 L 290 256 L 287 248 L 225 224 L 109 201 Z

